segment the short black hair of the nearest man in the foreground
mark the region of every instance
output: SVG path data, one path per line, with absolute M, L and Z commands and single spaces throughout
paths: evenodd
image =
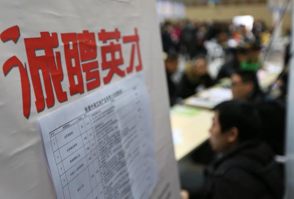
M 261 130 L 260 118 L 250 103 L 234 99 L 222 102 L 213 110 L 219 113 L 222 133 L 236 127 L 239 131 L 239 142 L 259 138 Z

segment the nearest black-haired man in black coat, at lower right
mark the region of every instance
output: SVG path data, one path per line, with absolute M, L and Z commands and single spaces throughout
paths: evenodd
M 274 154 L 259 141 L 260 119 L 245 101 L 219 104 L 210 144 L 220 157 L 205 170 L 204 199 L 282 199 L 284 182 Z

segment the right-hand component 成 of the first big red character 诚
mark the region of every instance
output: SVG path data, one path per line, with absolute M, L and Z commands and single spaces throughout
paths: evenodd
M 53 32 L 52 36 L 50 36 L 49 32 L 40 32 L 40 35 L 40 37 L 25 38 L 25 50 L 36 97 L 35 104 L 37 112 L 41 112 L 45 109 L 45 100 L 39 70 L 41 70 L 44 80 L 47 108 L 54 106 L 52 83 L 57 100 L 59 102 L 64 102 L 68 99 L 67 93 L 63 91 L 61 86 L 61 82 L 63 81 L 63 70 L 60 52 L 56 52 L 55 54 L 53 52 L 53 49 L 57 48 L 59 45 L 57 33 Z M 42 54 L 37 55 L 37 53 Z M 54 57 L 56 57 L 56 62 Z

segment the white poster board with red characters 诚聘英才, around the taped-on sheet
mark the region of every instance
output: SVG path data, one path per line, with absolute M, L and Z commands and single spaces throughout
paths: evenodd
M 0 1 L 0 193 L 54 199 L 38 119 L 107 86 L 145 77 L 158 181 L 179 198 L 155 1 Z

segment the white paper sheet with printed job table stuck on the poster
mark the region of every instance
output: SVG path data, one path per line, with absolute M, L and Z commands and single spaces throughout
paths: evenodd
M 57 199 L 147 199 L 158 180 L 143 73 L 39 119 Z

